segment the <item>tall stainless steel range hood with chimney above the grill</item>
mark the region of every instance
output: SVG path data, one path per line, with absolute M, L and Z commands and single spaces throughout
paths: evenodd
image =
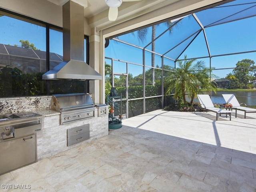
M 84 62 L 84 7 L 68 1 L 62 6 L 63 60 L 43 79 L 102 80 L 102 76 Z

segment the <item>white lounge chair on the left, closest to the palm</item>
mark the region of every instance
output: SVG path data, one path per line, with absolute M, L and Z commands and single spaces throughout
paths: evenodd
M 212 100 L 209 95 L 197 95 L 197 98 L 200 102 L 200 107 L 206 109 L 206 111 L 212 111 L 216 113 L 216 121 L 218 121 L 218 115 L 226 114 L 226 117 L 229 115 L 229 120 L 231 121 L 232 111 L 227 111 L 224 109 L 214 107 Z

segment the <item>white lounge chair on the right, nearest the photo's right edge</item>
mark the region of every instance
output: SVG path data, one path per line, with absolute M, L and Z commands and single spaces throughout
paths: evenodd
M 239 103 L 234 94 L 222 94 L 222 96 L 226 103 L 232 104 L 232 108 L 244 111 L 244 118 L 246 118 L 246 113 L 256 113 L 256 109 L 247 107 L 245 103 Z M 244 104 L 245 107 L 241 106 L 242 104 Z

